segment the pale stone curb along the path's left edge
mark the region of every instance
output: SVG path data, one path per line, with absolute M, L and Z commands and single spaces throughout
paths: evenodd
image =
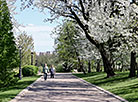
M 41 77 L 42 77 L 42 76 L 41 76 Z M 34 85 L 37 81 L 41 80 L 41 77 L 38 78 L 36 81 L 34 81 L 31 85 L 27 86 L 25 89 L 23 89 L 19 94 L 17 94 L 17 95 L 16 95 L 11 101 L 9 101 L 9 102 L 17 102 L 17 99 L 20 99 L 20 97 L 22 97 L 22 96 L 25 94 L 25 92 L 29 91 L 29 89 L 32 88 L 33 85 Z

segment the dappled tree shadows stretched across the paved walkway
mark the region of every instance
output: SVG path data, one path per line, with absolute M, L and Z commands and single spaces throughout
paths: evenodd
M 35 83 L 33 87 L 29 88 L 29 91 L 31 93 L 39 93 L 39 97 L 42 99 L 45 97 L 46 99 L 53 100 L 53 102 L 55 100 L 55 102 L 61 101 L 61 99 L 65 102 L 112 102 L 108 101 L 108 99 L 113 98 L 113 95 L 105 93 L 103 90 L 99 91 L 99 89 L 94 88 L 95 86 L 83 81 L 69 81 L 70 79 L 76 79 L 76 77 L 70 75 L 70 73 L 56 74 L 54 79 L 48 79 L 47 81 L 42 79 L 43 81 Z M 35 101 L 37 96 L 38 94 L 25 94 L 23 98 L 31 98 Z M 80 99 L 75 99 L 74 97 L 80 97 Z M 116 98 L 116 100 L 120 99 Z M 42 100 L 40 99 L 39 101 Z M 47 100 L 46 102 L 51 101 Z

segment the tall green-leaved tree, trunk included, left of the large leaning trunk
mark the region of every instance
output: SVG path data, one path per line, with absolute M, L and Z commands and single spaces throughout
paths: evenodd
M 80 38 L 77 36 L 79 34 L 79 30 L 75 28 L 75 25 L 71 21 L 66 21 L 63 25 L 58 29 L 57 42 L 57 54 L 59 57 L 65 62 L 65 69 L 69 69 L 71 65 L 74 64 L 74 61 L 78 61 L 78 67 L 81 66 L 80 59 Z M 68 68 L 69 67 L 69 68 Z M 85 73 L 83 67 L 81 70 Z

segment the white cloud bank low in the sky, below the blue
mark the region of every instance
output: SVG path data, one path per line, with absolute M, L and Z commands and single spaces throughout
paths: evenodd
M 28 24 L 26 27 L 20 27 L 21 31 L 27 32 L 34 39 L 35 51 L 45 52 L 53 51 L 54 39 L 51 37 L 52 26 Z

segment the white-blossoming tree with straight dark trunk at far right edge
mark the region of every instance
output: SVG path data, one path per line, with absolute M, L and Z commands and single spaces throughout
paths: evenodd
M 136 2 L 132 1 L 124 7 L 123 15 L 125 16 L 122 18 L 122 22 L 119 21 L 122 29 L 119 32 L 120 47 L 118 47 L 118 51 L 121 54 L 131 52 L 129 77 L 134 77 L 136 75 L 136 51 L 138 50 L 138 6 Z

